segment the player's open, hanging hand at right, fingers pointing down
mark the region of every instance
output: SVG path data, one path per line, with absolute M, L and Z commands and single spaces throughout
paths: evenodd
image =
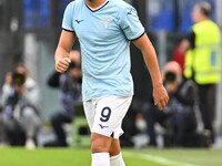
M 168 104 L 169 96 L 163 85 L 153 87 L 154 104 L 162 111 Z

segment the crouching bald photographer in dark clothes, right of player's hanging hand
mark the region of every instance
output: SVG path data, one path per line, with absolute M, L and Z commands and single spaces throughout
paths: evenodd
M 147 108 L 150 145 L 157 145 L 153 127 L 158 122 L 167 129 L 165 146 L 183 146 L 188 137 L 196 131 L 193 111 L 196 104 L 196 87 L 193 81 L 182 77 L 181 68 L 174 61 L 167 63 L 163 81 L 170 96 L 168 106 L 162 112 L 157 107 Z

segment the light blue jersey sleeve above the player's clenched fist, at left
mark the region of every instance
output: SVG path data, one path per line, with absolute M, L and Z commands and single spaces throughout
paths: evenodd
M 74 28 L 72 25 L 73 6 L 74 6 L 73 2 L 69 3 L 63 14 L 62 29 L 68 31 L 74 31 Z

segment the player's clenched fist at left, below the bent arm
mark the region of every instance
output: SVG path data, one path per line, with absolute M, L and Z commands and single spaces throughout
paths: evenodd
M 58 59 L 56 61 L 56 71 L 59 73 L 65 72 L 70 63 L 71 63 L 71 60 L 69 58 Z

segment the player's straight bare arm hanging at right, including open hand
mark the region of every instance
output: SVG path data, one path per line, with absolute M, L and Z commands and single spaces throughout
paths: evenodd
M 141 50 L 145 64 L 149 69 L 153 84 L 154 104 L 158 105 L 160 110 L 163 110 L 168 104 L 169 96 L 162 84 L 162 77 L 154 48 L 145 33 L 138 40 L 133 41 L 133 43 Z

